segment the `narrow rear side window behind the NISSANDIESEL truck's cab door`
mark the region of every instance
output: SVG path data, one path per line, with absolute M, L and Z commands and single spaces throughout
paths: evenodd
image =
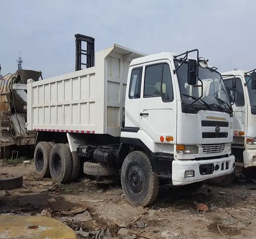
M 140 98 L 141 78 L 142 78 L 142 67 L 132 69 L 130 86 L 129 86 L 129 99 Z

